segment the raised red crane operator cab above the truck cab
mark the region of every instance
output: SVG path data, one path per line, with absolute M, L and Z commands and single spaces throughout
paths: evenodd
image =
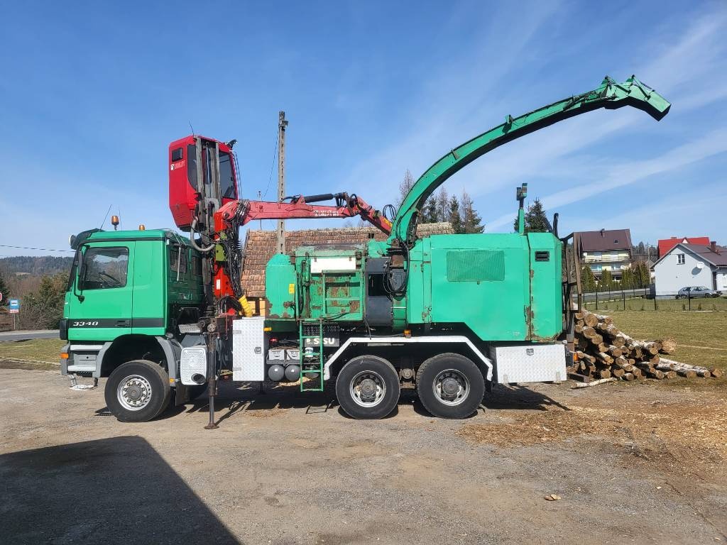
M 181 230 L 192 229 L 195 218 L 205 227 L 214 211 L 238 198 L 235 143 L 191 135 L 169 145 L 169 210 Z

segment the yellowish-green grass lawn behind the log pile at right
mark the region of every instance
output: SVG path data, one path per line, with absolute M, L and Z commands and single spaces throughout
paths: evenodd
M 727 371 L 727 312 L 602 312 L 634 339 L 675 339 L 676 353 L 665 358 Z

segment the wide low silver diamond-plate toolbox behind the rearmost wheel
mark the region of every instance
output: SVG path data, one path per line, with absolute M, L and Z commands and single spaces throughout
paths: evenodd
M 560 382 L 566 380 L 564 344 L 526 344 L 491 347 L 495 382 Z

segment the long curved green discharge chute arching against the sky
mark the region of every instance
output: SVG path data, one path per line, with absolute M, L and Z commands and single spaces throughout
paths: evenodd
M 417 179 L 396 214 L 388 243 L 394 245 L 397 241 L 413 242 L 412 227 L 416 225 L 414 219 L 427 198 L 452 174 L 485 153 L 558 121 L 599 108 L 615 110 L 624 106 L 643 110 L 659 121 L 667 115 L 671 105 L 654 89 L 640 82 L 636 76 L 631 76 L 623 83 L 617 83 L 606 76 L 601 86 L 593 91 L 559 100 L 517 118 L 507 116 L 505 123 L 457 146 Z

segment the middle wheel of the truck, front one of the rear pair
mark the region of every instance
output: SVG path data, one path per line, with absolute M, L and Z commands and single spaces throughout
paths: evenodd
M 343 366 L 336 379 L 338 403 L 355 419 L 388 416 L 399 401 L 399 392 L 394 366 L 378 356 L 356 356 Z

